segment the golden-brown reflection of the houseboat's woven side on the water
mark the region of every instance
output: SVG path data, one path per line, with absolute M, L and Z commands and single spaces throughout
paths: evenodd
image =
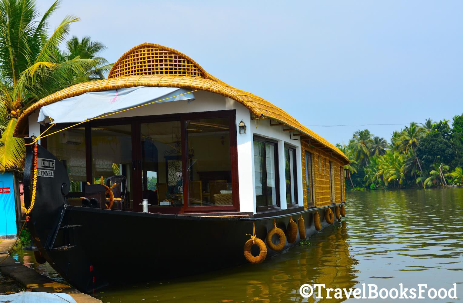
M 329 234 L 316 235 L 312 238 L 312 246 L 298 250 L 294 255 L 282 257 L 279 266 L 271 275 L 262 280 L 250 280 L 246 287 L 246 295 L 256 303 L 281 302 L 301 299 L 298 285 L 325 284 L 326 288 L 353 288 L 358 281 L 353 274 L 357 260 L 350 256 L 347 243 L 346 222 L 336 225 Z M 321 296 L 326 297 L 325 289 Z M 333 294 L 333 293 L 331 293 Z M 317 291 L 314 297 L 318 295 Z M 344 297 L 344 296 L 343 296 Z M 342 302 L 343 299 L 322 299 L 320 302 Z M 308 302 L 315 302 L 313 297 Z

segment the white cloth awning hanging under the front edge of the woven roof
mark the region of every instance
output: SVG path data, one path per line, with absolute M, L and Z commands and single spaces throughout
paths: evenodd
M 82 122 L 155 101 L 163 103 L 182 100 L 188 100 L 188 102 L 194 100 L 191 89 L 137 86 L 88 92 L 45 105 L 40 109 L 38 122 L 42 124 L 51 121 L 54 123 Z

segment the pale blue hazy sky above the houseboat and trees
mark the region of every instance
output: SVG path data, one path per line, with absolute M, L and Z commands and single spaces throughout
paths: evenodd
M 463 113 L 461 0 L 63 0 L 52 28 L 69 14 L 69 34 L 111 63 L 144 42 L 174 48 L 333 144 Z

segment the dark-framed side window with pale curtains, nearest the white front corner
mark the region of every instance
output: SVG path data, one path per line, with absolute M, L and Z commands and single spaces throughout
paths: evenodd
M 276 143 L 254 139 L 254 178 L 257 209 L 278 206 Z

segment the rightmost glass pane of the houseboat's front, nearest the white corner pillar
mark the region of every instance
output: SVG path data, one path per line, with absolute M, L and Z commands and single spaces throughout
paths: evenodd
M 233 205 L 230 118 L 185 121 L 188 205 Z

